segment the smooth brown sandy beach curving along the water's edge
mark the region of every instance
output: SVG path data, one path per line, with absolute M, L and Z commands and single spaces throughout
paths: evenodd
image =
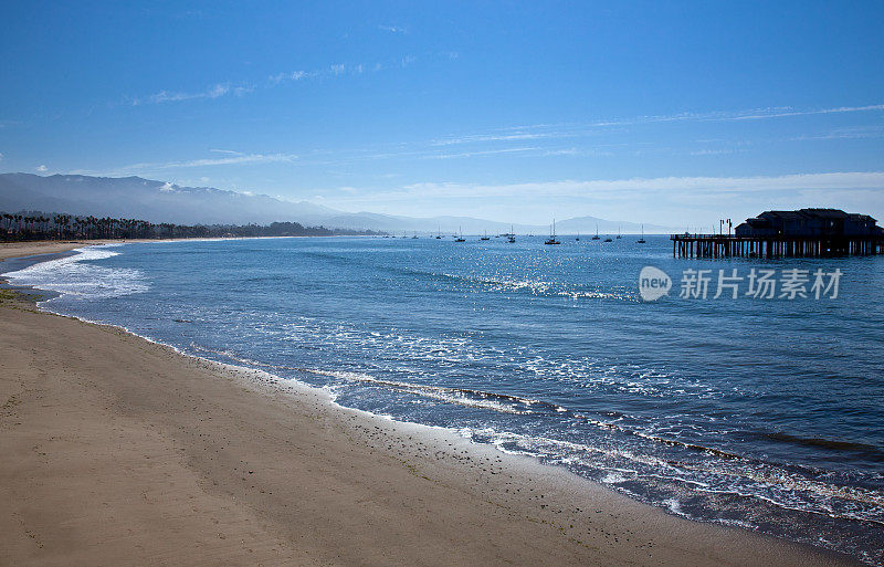
M 853 565 L 0 300 L 1 565 Z

